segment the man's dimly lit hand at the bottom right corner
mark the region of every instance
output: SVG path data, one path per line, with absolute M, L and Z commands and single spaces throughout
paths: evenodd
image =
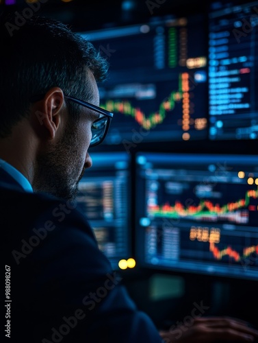
M 248 323 L 229 317 L 196 318 L 191 325 L 159 331 L 166 343 L 254 342 L 258 331 Z

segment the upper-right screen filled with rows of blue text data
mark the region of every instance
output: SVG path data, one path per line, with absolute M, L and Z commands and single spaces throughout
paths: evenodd
M 218 1 L 209 13 L 209 138 L 257 139 L 258 3 Z

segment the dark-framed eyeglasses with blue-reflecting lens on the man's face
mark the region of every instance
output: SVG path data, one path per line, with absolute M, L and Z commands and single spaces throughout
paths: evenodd
M 35 95 L 34 97 L 31 97 L 31 102 L 39 101 L 43 97 L 44 95 Z M 99 106 L 90 104 L 89 102 L 84 102 L 83 100 L 76 99 L 75 97 L 70 97 L 68 95 L 64 95 L 64 97 L 72 102 L 75 102 L 76 104 L 79 104 L 86 108 L 90 108 L 90 110 L 94 110 L 102 115 L 102 117 L 99 117 L 92 123 L 92 139 L 90 141 L 90 147 L 101 144 L 107 135 L 111 119 L 113 118 L 113 113 Z

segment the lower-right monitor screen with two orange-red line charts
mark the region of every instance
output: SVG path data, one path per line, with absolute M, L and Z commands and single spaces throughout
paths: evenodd
M 258 280 L 258 157 L 138 152 L 144 267 Z

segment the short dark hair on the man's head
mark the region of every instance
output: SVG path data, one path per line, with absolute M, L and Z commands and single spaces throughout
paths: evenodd
M 12 35 L 7 23 L 14 23 L 14 14 L 1 16 L 0 23 L 0 138 L 8 137 L 12 126 L 27 115 L 31 96 L 58 86 L 66 95 L 90 101 L 87 71 L 99 82 L 108 69 L 92 43 L 60 21 L 33 16 Z M 79 105 L 67 106 L 75 117 Z

